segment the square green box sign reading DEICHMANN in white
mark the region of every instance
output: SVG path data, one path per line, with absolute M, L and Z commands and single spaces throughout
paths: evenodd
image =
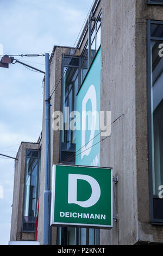
M 53 166 L 51 225 L 112 228 L 112 170 Z

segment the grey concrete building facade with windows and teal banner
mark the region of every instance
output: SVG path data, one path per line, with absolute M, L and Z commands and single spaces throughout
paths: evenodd
M 54 46 L 51 170 L 54 163 L 112 167 L 118 182 L 112 229 L 52 227 L 52 245 L 163 243 L 162 57 L 162 0 L 95 0 L 77 47 Z M 108 113 L 104 134 L 69 129 L 82 123 L 76 112 L 84 100 L 88 111 Z M 45 92 L 42 120 L 39 140 L 22 142 L 17 153 L 11 241 L 43 244 Z

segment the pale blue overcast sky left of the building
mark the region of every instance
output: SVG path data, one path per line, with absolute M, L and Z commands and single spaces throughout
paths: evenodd
M 0 0 L 3 54 L 51 54 L 54 45 L 74 46 L 92 2 Z M 45 71 L 44 57 L 15 58 Z M 0 68 L 0 154 L 15 157 L 21 141 L 37 141 L 42 129 L 42 79 L 43 74 L 18 63 Z M 14 160 L 0 156 L 0 245 L 10 240 L 13 185 Z

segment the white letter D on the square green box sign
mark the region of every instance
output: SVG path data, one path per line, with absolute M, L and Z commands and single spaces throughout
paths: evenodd
M 77 180 L 86 180 L 92 188 L 91 197 L 86 201 L 77 201 Z M 100 196 L 100 186 L 93 177 L 81 174 L 68 174 L 68 204 L 78 204 L 84 208 L 89 208 L 98 202 Z

